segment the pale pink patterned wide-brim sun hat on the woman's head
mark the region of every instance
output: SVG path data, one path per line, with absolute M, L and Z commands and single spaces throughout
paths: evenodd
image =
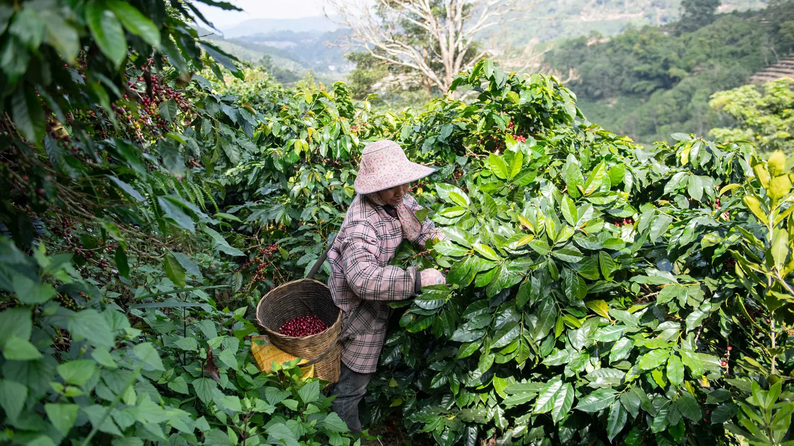
M 358 194 L 372 194 L 423 179 L 434 171 L 433 167 L 410 162 L 394 141 L 380 140 L 364 146 L 353 186 Z

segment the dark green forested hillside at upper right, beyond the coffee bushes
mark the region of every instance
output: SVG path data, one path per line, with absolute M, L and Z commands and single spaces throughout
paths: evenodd
M 749 82 L 794 48 L 794 2 L 715 17 L 692 32 L 678 24 L 630 29 L 612 38 L 567 40 L 546 55 L 574 67 L 571 83 L 584 113 L 608 129 L 649 143 L 674 130 L 707 133 L 725 124 L 710 110 L 718 90 Z

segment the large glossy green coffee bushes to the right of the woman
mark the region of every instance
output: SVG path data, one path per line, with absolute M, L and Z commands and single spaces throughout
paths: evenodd
M 450 240 L 403 262 L 448 286 L 395 305 L 372 418 L 400 408 L 438 444 L 782 444 L 791 161 L 642 148 L 574 121 L 551 79 L 488 71 L 425 113 L 464 175 L 435 184 Z

